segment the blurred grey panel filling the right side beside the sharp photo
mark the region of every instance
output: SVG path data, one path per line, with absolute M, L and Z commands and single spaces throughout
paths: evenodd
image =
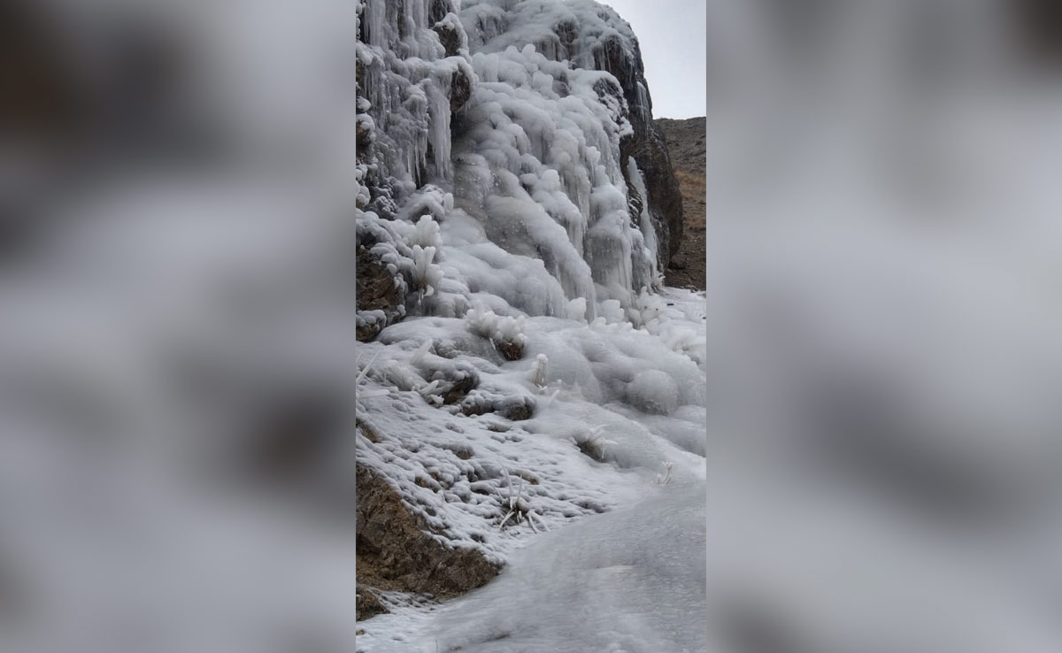
M 708 3 L 721 650 L 1062 646 L 1059 27 Z

